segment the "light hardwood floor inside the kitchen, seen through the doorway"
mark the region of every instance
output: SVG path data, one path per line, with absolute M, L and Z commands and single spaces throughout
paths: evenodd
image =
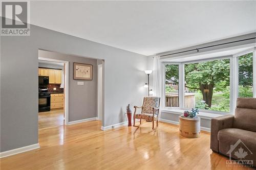
M 38 129 L 64 125 L 64 110 L 51 109 L 49 112 L 38 113 Z

